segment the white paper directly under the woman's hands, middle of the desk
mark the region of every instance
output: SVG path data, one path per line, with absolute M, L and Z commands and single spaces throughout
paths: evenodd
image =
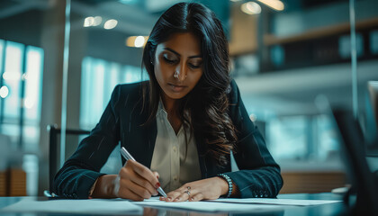
M 184 209 L 191 211 L 282 211 L 283 207 L 278 205 L 266 205 L 266 204 L 242 204 L 242 203 L 224 203 L 224 202 L 164 202 L 153 200 L 145 200 L 143 202 L 133 202 L 135 204 L 171 208 L 171 209 Z

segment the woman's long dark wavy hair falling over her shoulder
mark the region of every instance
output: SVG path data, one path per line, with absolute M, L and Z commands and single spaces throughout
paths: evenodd
M 149 92 L 147 88 L 143 91 L 143 103 L 149 97 L 150 115 L 146 123 L 155 120 L 162 92 L 153 65 L 157 45 L 169 40 L 176 32 L 191 32 L 201 41 L 203 62 L 203 74 L 198 84 L 180 99 L 178 112 L 181 120 L 193 130 L 197 141 L 205 145 L 204 153 L 214 158 L 218 165 L 226 165 L 226 156 L 237 141 L 236 129 L 228 114 L 229 45 L 220 20 L 202 4 L 173 5 L 160 16 L 149 35 L 142 58 L 142 67 L 149 76 Z M 190 120 L 185 112 L 189 113 Z

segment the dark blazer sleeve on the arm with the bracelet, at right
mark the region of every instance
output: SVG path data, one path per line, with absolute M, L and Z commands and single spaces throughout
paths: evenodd
M 230 87 L 229 113 L 237 129 L 234 157 L 239 171 L 226 174 L 237 184 L 241 198 L 275 197 L 283 186 L 280 166 L 266 148 L 257 126 L 250 121 L 234 80 Z

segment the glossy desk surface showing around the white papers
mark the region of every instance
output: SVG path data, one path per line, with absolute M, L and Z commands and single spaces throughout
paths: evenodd
M 280 199 L 301 199 L 301 200 L 342 200 L 342 196 L 333 193 L 293 193 L 293 194 L 280 194 L 278 195 Z M 0 209 L 18 202 L 22 197 L 0 197 Z M 39 200 L 48 200 L 46 197 L 38 197 Z M 3 215 L 0 212 L 1 215 Z M 161 209 L 161 208 L 150 208 L 144 207 L 143 215 L 348 215 L 347 207 L 343 202 L 322 204 L 314 206 L 283 206 L 283 210 L 280 211 L 264 211 L 264 212 L 245 212 L 245 213 L 233 213 L 233 212 L 202 212 L 202 211 L 183 211 L 183 210 L 172 210 L 172 209 Z M 6 213 L 6 215 L 74 215 L 74 214 L 62 214 L 62 213 Z M 85 213 L 79 215 L 87 215 Z M 128 214 L 125 214 L 128 215 Z

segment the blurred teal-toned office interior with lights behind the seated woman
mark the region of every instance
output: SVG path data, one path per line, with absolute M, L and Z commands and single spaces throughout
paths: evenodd
M 48 125 L 91 130 L 115 85 L 148 79 L 140 68 L 143 45 L 176 2 L 0 2 L 0 195 L 49 189 Z M 282 166 L 282 193 L 347 184 L 337 130 L 314 100 L 324 94 L 364 116 L 366 82 L 378 80 L 378 1 L 197 2 L 223 23 L 231 76 Z M 59 137 L 65 157 L 79 139 Z M 117 154 L 109 162 L 109 172 L 121 167 Z M 5 187 L 5 175 L 24 182 Z

